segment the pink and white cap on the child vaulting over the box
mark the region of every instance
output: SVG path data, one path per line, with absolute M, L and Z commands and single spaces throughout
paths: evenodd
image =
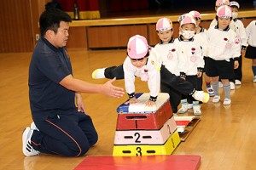
M 129 39 L 127 52 L 131 59 L 142 59 L 148 54 L 148 41 L 145 37 L 136 35 Z

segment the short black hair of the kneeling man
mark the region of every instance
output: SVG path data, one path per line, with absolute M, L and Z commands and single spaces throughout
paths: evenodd
M 67 13 L 59 8 L 49 8 L 45 10 L 39 19 L 41 36 L 44 36 L 45 32 L 48 30 L 57 33 L 61 21 L 72 22 L 72 19 Z

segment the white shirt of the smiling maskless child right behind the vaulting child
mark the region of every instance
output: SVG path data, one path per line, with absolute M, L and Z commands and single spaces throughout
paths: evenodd
M 162 59 L 162 64 L 166 66 L 166 69 L 172 74 L 179 76 L 179 68 L 178 68 L 178 56 L 177 49 L 175 44 L 173 43 L 174 39 L 170 42 L 160 42 L 154 46 L 155 50 L 160 54 Z

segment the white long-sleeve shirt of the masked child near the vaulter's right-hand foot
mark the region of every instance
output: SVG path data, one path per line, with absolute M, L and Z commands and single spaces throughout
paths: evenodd
M 185 73 L 187 76 L 197 75 L 198 69 L 204 68 L 205 61 L 203 59 L 201 46 L 198 41 L 194 38 L 191 38 L 189 41 L 183 41 L 182 37 L 178 37 L 175 40 L 175 46 L 177 47 L 178 58 L 181 61 L 179 62 L 179 68 L 181 75 Z

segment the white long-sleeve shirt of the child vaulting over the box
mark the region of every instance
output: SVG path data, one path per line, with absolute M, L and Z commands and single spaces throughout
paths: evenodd
M 127 56 L 123 65 L 125 72 L 125 90 L 127 94 L 135 93 L 135 77 L 141 77 L 145 82 L 148 82 L 149 94 L 152 97 L 157 97 L 160 93 L 160 54 L 154 48 L 150 49 L 148 61 L 142 68 L 137 68 L 132 65 L 131 59 Z

